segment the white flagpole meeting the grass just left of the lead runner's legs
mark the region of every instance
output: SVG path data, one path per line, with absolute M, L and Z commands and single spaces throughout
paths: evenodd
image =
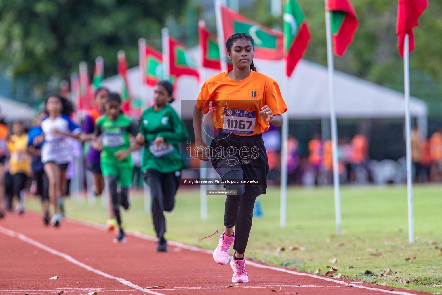
M 198 26 L 200 28 L 206 28 L 206 22 L 204 21 L 204 19 L 200 19 L 198 21 Z M 202 84 L 205 81 L 206 78 L 206 71 L 204 70 L 204 64 L 203 64 L 203 60 L 204 60 L 204 54 L 203 54 L 203 50 L 202 50 L 202 44 L 201 44 L 201 40 L 200 40 L 200 47 L 199 47 L 199 54 L 200 54 L 200 60 L 199 60 L 199 88 L 202 88 Z M 204 125 L 204 121 L 202 122 L 202 124 Z M 205 132 L 202 132 L 202 139 L 204 142 L 206 142 L 207 140 L 207 136 Z M 206 142 L 207 143 L 207 142 Z M 192 153 L 192 151 L 191 151 Z M 199 178 L 200 179 L 204 179 L 207 178 L 207 165 L 206 165 L 206 161 L 199 161 Z M 207 186 L 206 185 L 200 185 L 199 186 L 199 203 L 200 203 L 200 216 L 201 216 L 201 220 L 207 220 L 207 193 L 206 193 L 206 189 Z

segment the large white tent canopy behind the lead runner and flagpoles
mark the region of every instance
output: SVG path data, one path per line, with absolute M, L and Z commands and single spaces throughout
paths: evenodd
M 191 50 L 194 57 L 198 49 Z M 282 61 L 254 60 L 259 72 L 274 78 L 282 87 L 284 73 Z M 217 71 L 205 69 L 203 81 L 217 74 Z M 335 71 L 335 111 L 338 118 L 401 118 L 405 115 L 404 94 L 378 84 Z M 138 67 L 129 70 L 130 93 L 140 97 Z M 328 73 L 327 68 L 311 61 L 301 60 L 289 79 L 289 97 L 285 97 L 288 115 L 291 119 L 324 119 L 329 117 Z M 103 86 L 119 92 L 121 80 L 112 76 L 103 80 Z M 152 89 L 142 86 L 142 96 L 152 97 Z M 201 88 L 198 80 L 191 76 L 181 76 L 176 82 L 175 102 L 172 106 L 181 113 L 180 100 L 196 100 Z M 418 117 L 423 124 L 427 118 L 427 104 L 423 100 L 411 98 L 410 110 L 413 117 Z M 189 111 L 183 110 L 183 116 Z M 190 112 L 191 115 L 191 112 Z

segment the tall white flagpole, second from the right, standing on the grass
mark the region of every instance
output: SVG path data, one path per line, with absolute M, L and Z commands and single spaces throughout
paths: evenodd
M 333 91 L 334 65 L 333 65 L 333 49 L 331 43 L 331 19 L 330 19 L 330 11 L 328 10 L 325 10 L 325 27 L 327 30 L 328 96 L 330 99 L 330 122 L 331 122 L 332 158 L 333 158 L 333 187 L 335 189 L 336 234 L 340 236 L 341 235 L 341 192 L 339 188 L 339 164 L 338 164 L 338 153 L 337 153 L 338 130 L 336 124 L 335 98 Z

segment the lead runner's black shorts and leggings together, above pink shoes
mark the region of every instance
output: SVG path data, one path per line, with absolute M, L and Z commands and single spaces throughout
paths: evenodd
M 253 218 L 253 206 L 257 196 L 267 190 L 269 161 L 261 134 L 240 136 L 220 130 L 211 144 L 211 162 L 222 180 L 259 179 L 259 184 L 226 184 L 228 190 L 237 190 L 237 195 L 228 195 L 225 200 L 224 225 L 235 226 L 233 249 L 245 252 Z

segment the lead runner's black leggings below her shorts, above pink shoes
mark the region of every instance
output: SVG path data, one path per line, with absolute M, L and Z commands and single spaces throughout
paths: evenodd
M 226 178 L 242 180 L 243 174 L 239 170 L 230 170 L 225 173 L 223 180 Z M 233 249 L 239 254 L 244 254 L 251 230 L 256 197 L 243 197 L 244 184 L 227 184 L 224 187 L 227 190 L 237 190 L 237 195 L 228 195 L 225 200 L 224 226 L 227 228 L 235 226 Z

